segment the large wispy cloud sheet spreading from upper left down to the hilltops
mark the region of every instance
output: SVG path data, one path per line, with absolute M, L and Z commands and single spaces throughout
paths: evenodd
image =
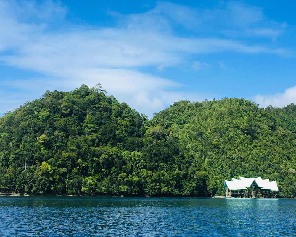
M 268 24 L 262 9 L 236 2 L 213 10 L 159 2 L 154 9 L 141 14 L 110 12 L 117 24 L 109 28 L 74 25 L 66 20 L 67 14 L 67 8 L 55 1 L 39 4 L 0 0 L 0 63 L 44 75 L 17 83 L 17 79 L 2 78 L 0 85 L 10 83 L 11 87 L 22 87 L 26 101 L 25 98 L 31 98 L 28 95 L 33 92 L 36 95 L 37 86 L 45 92 L 101 83 L 121 101 L 151 114 L 182 99 L 181 96 L 193 100 L 199 96 L 178 92 L 183 85 L 144 73 L 144 68 L 159 71 L 188 65 L 193 55 L 224 51 L 282 56 L 290 53 L 284 48 L 246 43 L 242 38 L 246 32 L 276 38 L 282 28 L 276 23 Z M 240 37 L 229 38 L 228 33 L 222 38 L 215 35 L 212 22 L 217 20 L 223 25 L 220 32 L 232 31 Z M 258 22 L 267 26 L 259 28 Z M 187 34 L 178 35 L 176 27 L 183 28 Z M 200 37 L 201 34 L 206 37 Z M 200 61 L 192 64 L 195 69 L 207 66 Z M 0 95 L 7 104 L 14 104 L 12 98 L 17 98 L 13 91 L 10 95 Z

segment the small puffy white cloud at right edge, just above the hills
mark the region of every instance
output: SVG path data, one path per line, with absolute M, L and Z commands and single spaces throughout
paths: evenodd
M 260 105 L 260 107 L 263 108 L 268 105 L 282 108 L 290 103 L 296 104 L 296 86 L 286 89 L 284 93 L 277 93 L 274 95 L 256 95 L 254 100 Z

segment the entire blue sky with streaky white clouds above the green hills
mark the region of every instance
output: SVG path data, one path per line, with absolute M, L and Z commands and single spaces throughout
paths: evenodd
M 179 100 L 296 104 L 296 1 L 0 0 L 0 117 L 97 83 L 152 118 Z

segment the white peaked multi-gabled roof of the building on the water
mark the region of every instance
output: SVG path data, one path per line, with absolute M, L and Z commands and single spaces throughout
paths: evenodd
M 271 191 L 279 191 L 276 181 L 270 182 L 269 179 L 262 179 L 261 177 L 257 178 L 244 178 L 239 176 L 239 179 L 232 178 L 231 181 L 224 181 L 224 189 L 228 188 L 229 190 L 238 190 L 238 189 L 247 189 L 253 182 L 258 185 L 261 189 L 268 189 Z

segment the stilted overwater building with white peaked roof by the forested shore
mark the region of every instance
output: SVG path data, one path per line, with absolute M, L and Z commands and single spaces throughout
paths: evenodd
M 224 181 L 226 197 L 248 197 L 248 198 L 275 198 L 276 191 L 279 191 L 276 181 L 269 179 L 232 178 L 231 181 Z

